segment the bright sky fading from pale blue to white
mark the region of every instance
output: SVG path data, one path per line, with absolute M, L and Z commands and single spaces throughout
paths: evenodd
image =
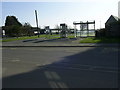
M 16 16 L 21 23 L 36 26 L 34 10 L 38 12 L 39 26 L 66 23 L 73 27 L 74 21 L 96 21 L 96 28 L 104 28 L 110 15 L 118 16 L 119 0 L 2 0 L 2 25 L 6 16 Z M 49 2 L 48 2 L 49 1 Z M 74 1 L 74 2 L 73 2 Z M 101 22 L 101 24 L 100 24 Z

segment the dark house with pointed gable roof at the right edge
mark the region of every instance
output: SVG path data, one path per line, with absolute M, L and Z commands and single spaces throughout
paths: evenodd
M 105 23 L 105 30 L 107 37 L 120 36 L 120 18 L 111 15 Z

